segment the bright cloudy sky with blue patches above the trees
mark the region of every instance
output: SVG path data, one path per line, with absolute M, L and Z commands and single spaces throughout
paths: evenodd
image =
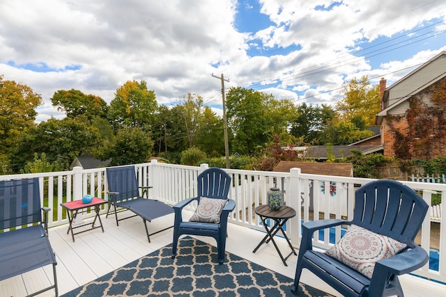
M 446 50 L 446 0 L 1 0 L 0 75 L 50 98 L 107 103 L 144 80 L 158 104 L 187 93 L 221 111 L 225 89 L 333 104 L 367 75 L 387 86 Z

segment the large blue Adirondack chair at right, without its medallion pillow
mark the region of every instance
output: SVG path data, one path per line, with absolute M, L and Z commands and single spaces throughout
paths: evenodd
M 381 179 L 361 186 L 355 192 L 353 220 L 315 220 L 302 224 L 302 241 L 291 291 L 298 293 L 302 269 L 307 268 L 343 296 L 403 296 L 398 275 L 421 268 L 429 259 L 427 252 L 414 242 L 427 210 L 428 204 L 420 195 L 400 182 Z M 371 278 L 324 252 L 313 250 L 314 232 L 352 224 L 406 243 L 408 248 L 376 262 Z

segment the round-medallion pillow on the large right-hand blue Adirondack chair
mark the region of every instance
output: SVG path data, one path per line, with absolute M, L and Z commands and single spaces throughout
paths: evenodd
M 371 278 L 376 262 L 396 255 L 403 248 L 406 248 L 406 243 L 351 225 L 325 253 Z

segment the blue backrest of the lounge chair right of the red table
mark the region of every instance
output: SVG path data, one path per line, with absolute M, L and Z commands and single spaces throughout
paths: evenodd
M 107 184 L 110 192 L 118 192 L 116 201 L 139 197 L 137 175 L 134 166 L 107 168 Z

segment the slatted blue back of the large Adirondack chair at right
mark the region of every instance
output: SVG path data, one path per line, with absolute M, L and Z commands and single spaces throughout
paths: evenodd
M 413 189 L 380 179 L 356 190 L 352 223 L 412 246 L 428 209 Z

